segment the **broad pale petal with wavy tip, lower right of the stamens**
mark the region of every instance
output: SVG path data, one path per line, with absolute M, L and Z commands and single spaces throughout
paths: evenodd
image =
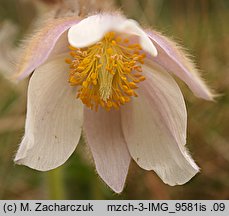
M 154 170 L 166 184 L 184 184 L 199 169 L 184 147 L 187 117 L 182 93 L 167 72 L 144 67 L 144 73 L 139 97 L 122 109 L 129 152 L 140 167 Z

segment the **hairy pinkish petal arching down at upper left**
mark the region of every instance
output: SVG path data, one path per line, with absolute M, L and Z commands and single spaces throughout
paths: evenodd
M 18 64 L 17 79 L 29 76 L 33 70 L 43 64 L 49 57 L 60 36 L 72 25 L 79 22 L 79 18 L 52 19 L 36 32 L 25 44 L 25 51 Z

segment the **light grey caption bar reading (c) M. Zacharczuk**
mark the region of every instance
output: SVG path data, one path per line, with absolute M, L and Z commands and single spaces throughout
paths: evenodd
M 229 200 L 1 200 L 0 215 L 229 216 Z

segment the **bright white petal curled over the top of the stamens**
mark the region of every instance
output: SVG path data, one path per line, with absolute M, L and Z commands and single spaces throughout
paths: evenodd
M 74 47 L 87 47 L 101 40 L 109 31 L 136 35 L 145 51 L 157 55 L 155 46 L 138 23 L 120 15 L 100 14 L 83 19 L 69 29 L 68 40 Z

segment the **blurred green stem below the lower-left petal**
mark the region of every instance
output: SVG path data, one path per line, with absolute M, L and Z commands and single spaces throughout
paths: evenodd
M 63 168 L 59 167 L 47 173 L 48 199 L 65 199 Z

